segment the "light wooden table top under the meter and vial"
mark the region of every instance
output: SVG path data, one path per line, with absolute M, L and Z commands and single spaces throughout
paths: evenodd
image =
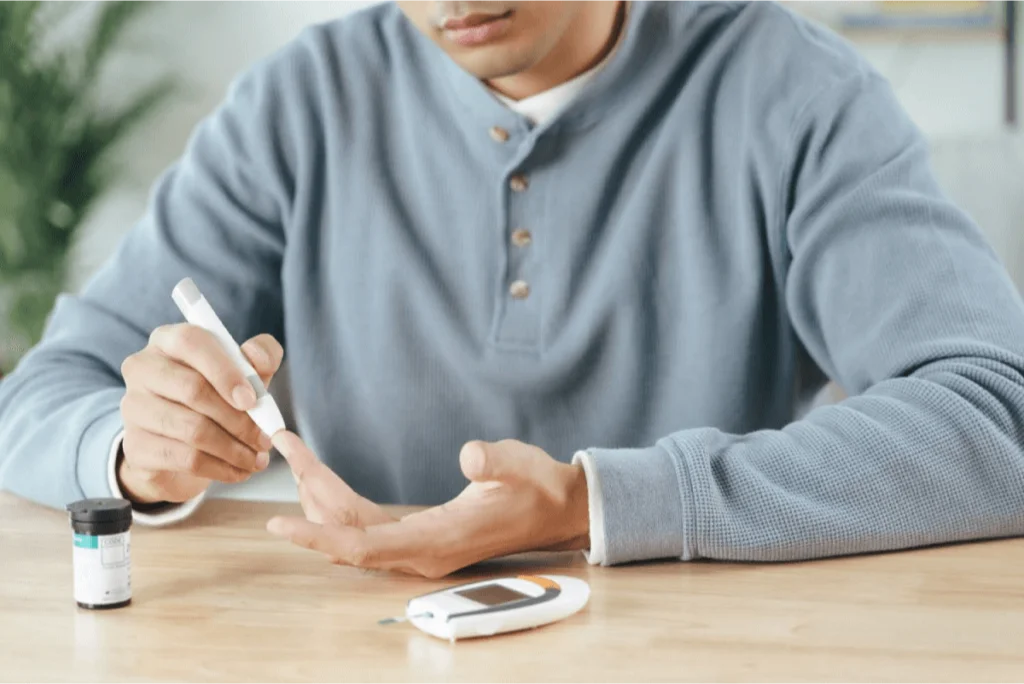
M 134 602 L 80 610 L 62 512 L 0 495 L 0 682 L 1024 682 L 1024 541 L 781 565 L 496 572 L 585 578 L 588 608 L 457 644 L 378 627 L 441 583 L 338 568 L 270 538 L 287 504 L 215 501 L 132 536 Z

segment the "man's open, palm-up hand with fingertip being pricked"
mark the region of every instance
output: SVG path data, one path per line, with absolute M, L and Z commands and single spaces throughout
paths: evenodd
M 294 435 L 279 433 L 274 445 L 300 487 L 347 489 Z M 469 442 L 459 461 L 469 486 L 441 506 L 366 525 L 338 524 L 341 516 L 318 521 L 275 517 L 267 529 L 339 565 L 430 579 L 524 551 L 590 547 L 587 479 L 582 467 L 559 463 L 537 446 L 512 440 Z M 362 510 L 343 517 L 359 522 L 377 517 L 366 514 L 368 506 L 375 506 L 367 500 L 352 497 L 349 501 L 357 502 Z

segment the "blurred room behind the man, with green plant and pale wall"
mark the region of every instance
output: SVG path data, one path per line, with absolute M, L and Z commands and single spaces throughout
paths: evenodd
M 893 84 L 947 193 L 1024 285 L 1019 0 L 785 0 Z M 374 0 L 0 0 L 0 371 L 145 208 L 229 81 Z

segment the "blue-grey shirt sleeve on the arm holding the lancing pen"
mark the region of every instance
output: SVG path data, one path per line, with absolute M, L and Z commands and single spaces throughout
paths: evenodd
M 282 263 L 308 98 L 301 44 L 232 83 L 158 180 L 140 220 L 78 294 L 57 299 L 42 341 L 0 382 L 0 488 L 61 508 L 115 494 L 121 366 L 181 323 L 174 285 L 193 277 L 238 340 L 284 339 Z M 311 153 L 310 153 L 311 154 Z

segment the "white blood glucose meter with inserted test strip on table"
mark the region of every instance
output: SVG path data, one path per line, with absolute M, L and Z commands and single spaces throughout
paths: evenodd
M 519 575 L 474 582 L 409 601 L 403 618 L 439 639 L 456 641 L 549 625 L 579 612 L 590 599 L 583 580 Z

